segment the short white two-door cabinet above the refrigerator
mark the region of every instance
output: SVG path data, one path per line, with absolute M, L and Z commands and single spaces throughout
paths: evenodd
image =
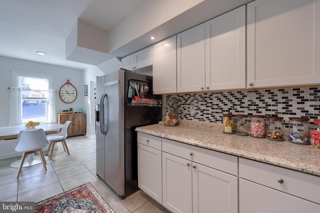
M 139 69 L 152 65 L 152 46 L 121 58 L 122 68 L 128 70 Z

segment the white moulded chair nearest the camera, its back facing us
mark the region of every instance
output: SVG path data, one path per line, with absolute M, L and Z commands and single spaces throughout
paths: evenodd
M 31 153 L 37 153 L 39 155 L 42 165 L 46 170 L 46 161 L 41 149 L 46 147 L 47 145 L 48 141 L 46 140 L 43 129 L 21 130 L 19 132 L 14 145 L 14 150 L 16 152 L 23 152 L 23 155 L 18 172 L 16 174 L 16 178 L 19 177 L 25 157 Z

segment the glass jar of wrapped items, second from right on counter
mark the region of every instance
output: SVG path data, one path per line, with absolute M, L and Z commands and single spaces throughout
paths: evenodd
M 308 118 L 289 118 L 289 142 L 309 145 Z

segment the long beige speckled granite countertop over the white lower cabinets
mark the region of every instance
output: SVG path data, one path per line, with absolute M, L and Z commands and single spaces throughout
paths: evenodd
M 180 120 L 174 127 L 154 124 L 135 131 L 320 176 L 320 149 L 310 145 L 224 134 L 222 124 L 198 121 Z

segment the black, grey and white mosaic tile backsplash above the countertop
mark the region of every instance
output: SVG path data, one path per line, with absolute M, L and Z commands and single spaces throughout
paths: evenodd
M 222 123 L 222 114 L 246 114 L 320 119 L 320 88 L 289 88 L 232 92 L 170 94 L 166 111 L 175 109 L 179 119 Z M 194 114 L 189 107 L 194 105 Z

